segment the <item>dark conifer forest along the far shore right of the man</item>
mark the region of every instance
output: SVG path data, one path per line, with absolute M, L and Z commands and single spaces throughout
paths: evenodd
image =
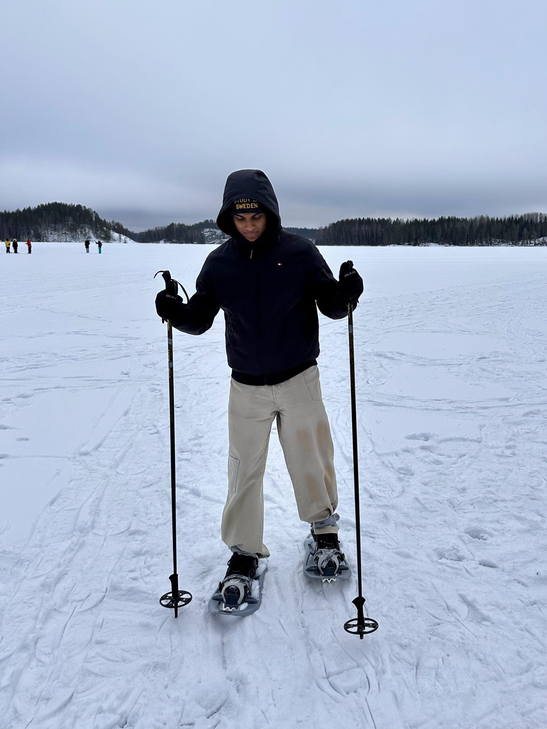
M 507 218 L 441 217 L 434 220 L 354 218 L 338 220 L 317 231 L 318 246 L 449 246 L 529 245 L 547 236 L 547 214 Z M 538 244 L 546 244 L 540 241 Z

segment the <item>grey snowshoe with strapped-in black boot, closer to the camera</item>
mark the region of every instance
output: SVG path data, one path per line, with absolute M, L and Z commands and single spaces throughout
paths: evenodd
M 262 602 L 264 575 L 268 567 L 259 566 L 257 557 L 233 553 L 224 580 L 209 600 L 214 615 L 252 615 Z

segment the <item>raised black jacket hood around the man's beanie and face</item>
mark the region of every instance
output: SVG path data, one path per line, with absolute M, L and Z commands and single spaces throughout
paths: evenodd
M 271 182 L 262 170 L 238 170 L 228 176 L 222 197 L 222 208 L 217 217 L 217 225 L 222 233 L 238 238 L 238 231 L 233 225 L 230 207 L 238 198 L 252 198 L 268 209 L 268 228 L 266 233 L 275 233 L 281 227 L 279 203 Z M 262 236 L 260 236 L 262 238 Z

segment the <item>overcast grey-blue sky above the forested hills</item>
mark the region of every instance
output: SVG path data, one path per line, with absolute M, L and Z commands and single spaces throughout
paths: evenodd
M 196 222 L 260 168 L 284 225 L 547 211 L 545 0 L 2 7 L 0 209 Z

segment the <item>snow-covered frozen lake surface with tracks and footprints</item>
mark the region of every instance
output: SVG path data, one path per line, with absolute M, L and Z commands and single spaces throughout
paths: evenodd
M 95 247 L 95 246 L 94 246 Z M 351 257 L 364 592 L 301 573 L 306 526 L 274 437 L 263 605 L 215 618 L 228 553 L 223 320 L 175 332 L 179 574 L 166 329 L 152 276 L 193 289 L 211 246 L 36 243 L 0 257 L 2 729 L 543 729 L 547 248 Z M 321 320 L 341 534 L 354 564 L 345 321 Z

